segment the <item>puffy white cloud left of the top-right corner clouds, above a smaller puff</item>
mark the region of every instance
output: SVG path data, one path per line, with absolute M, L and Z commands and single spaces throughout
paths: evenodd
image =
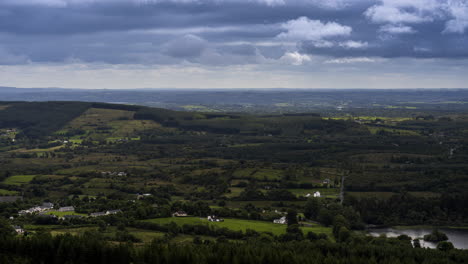
M 322 23 L 320 20 L 310 20 L 299 17 L 289 20 L 281 25 L 286 32 L 280 33 L 277 38 L 281 40 L 321 40 L 328 37 L 348 36 L 352 28 L 336 22 Z

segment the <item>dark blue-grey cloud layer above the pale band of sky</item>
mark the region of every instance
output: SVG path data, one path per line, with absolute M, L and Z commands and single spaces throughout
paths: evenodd
M 466 0 L 3 0 L 0 64 L 460 58 L 467 31 Z

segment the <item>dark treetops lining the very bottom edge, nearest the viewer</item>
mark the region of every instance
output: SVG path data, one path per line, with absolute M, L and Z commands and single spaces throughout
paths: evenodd
M 243 243 L 212 242 L 195 237 L 194 243 L 174 244 L 164 240 L 144 246 L 109 243 L 97 233 L 51 236 L 48 233 L 0 238 L 0 262 L 47 264 L 94 263 L 464 263 L 461 250 L 413 249 L 407 240 L 356 238 L 347 243 L 325 240 Z

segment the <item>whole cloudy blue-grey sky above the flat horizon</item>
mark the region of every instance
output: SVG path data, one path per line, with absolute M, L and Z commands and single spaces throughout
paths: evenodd
M 0 86 L 467 84 L 468 0 L 0 0 Z

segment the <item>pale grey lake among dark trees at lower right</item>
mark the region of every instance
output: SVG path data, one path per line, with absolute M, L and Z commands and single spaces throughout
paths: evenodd
M 449 242 L 458 249 L 468 249 L 468 229 L 449 229 L 438 228 L 449 238 Z M 424 235 L 430 234 L 432 228 L 372 228 L 368 230 L 371 236 L 380 236 L 386 234 L 387 237 L 397 237 L 407 235 L 412 239 L 419 238 L 421 247 L 436 248 L 437 243 L 431 243 L 423 240 Z

